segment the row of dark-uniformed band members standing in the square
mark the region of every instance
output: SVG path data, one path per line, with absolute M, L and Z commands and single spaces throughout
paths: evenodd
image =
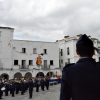
M 49 77 L 31 79 L 16 78 L 11 80 L 0 79 L 0 99 L 2 99 L 3 93 L 5 93 L 5 96 L 8 96 L 8 92 L 10 92 L 12 97 L 14 97 L 15 94 L 18 94 L 19 92 L 21 95 L 24 95 L 27 90 L 29 90 L 29 98 L 32 98 L 33 87 L 36 87 L 36 92 L 39 92 L 39 87 L 41 87 L 42 91 L 44 91 L 44 87 L 49 90 L 49 79 Z M 5 89 L 2 90 L 2 88 Z

